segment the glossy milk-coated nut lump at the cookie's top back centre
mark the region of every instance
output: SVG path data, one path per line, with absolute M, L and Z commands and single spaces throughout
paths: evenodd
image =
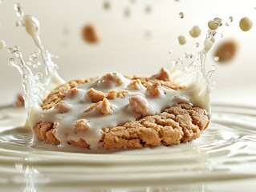
M 94 84 L 98 87 L 108 88 L 114 86 L 121 86 L 125 82 L 123 75 L 118 73 L 108 73 L 102 76 Z

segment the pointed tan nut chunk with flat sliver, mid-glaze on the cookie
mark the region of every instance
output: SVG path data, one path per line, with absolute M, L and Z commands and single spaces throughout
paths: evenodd
M 108 102 L 107 98 L 104 98 L 102 101 L 95 103 L 93 106 L 90 106 L 87 110 L 84 110 L 83 113 L 90 112 L 91 110 L 95 110 L 100 114 L 112 114 L 113 106 L 110 102 Z

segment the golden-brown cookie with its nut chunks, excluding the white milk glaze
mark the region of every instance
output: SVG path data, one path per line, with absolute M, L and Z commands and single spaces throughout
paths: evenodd
M 135 118 L 127 122 L 119 122 L 116 126 L 103 126 L 100 129 L 100 136 L 96 140 L 96 147 L 104 149 L 127 149 L 145 146 L 172 146 L 199 138 L 202 131 L 209 125 L 209 115 L 206 110 L 192 106 L 189 102 L 184 102 L 182 99 L 177 99 L 174 106 L 165 107 L 165 109 L 162 109 L 158 113 L 149 102 L 148 104 L 146 103 L 147 105 L 144 103 L 147 102 L 147 99 L 151 102 L 155 98 L 165 98 L 167 90 L 178 91 L 185 89 L 185 86 L 180 86 L 172 82 L 169 79 L 169 75 L 166 75 L 165 72 L 165 70 L 160 71 L 159 74 L 151 78 L 142 76 L 126 77 L 126 79 L 129 79 L 129 83 L 125 86 L 125 90 L 109 89 L 108 93 L 93 88 L 87 90 L 86 95 L 87 99 L 90 98 L 91 106 L 83 111 L 85 118 L 76 119 L 76 121 L 72 120 L 74 122 L 71 124 L 72 127 L 70 129 L 77 137 L 74 135 L 72 137 L 67 136 L 66 144 L 95 149 L 95 146 L 92 147 L 95 145 L 95 142 L 89 141 L 91 138 L 81 136 L 86 134 L 92 135 L 91 133 L 94 133 L 89 133 L 90 130 L 94 129 L 94 127 L 90 127 L 93 118 L 86 117 L 91 117 L 91 115 L 95 117 L 95 114 L 101 118 L 112 117 L 113 111 L 116 110 L 116 103 L 113 101 L 115 99 L 119 102 L 123 101 L 130 93 L 132 93 L 132 96 L 129 96 L 130 98 L 125 100 L 128 104 L 124 105 L 124 108 L 129 113 L 132 113 Z M 110 78 L 112 82 L 115 82 L 115 86 L 120 86 L 123 83 L 123 79 L 116 78 L 116 76 L 108 77 L 107 75 L 104 77 L 105 79 Z M 59 86 L 51 91 L 43 101 L 42 110 L 54 110 L 59 114 L 68 115 L 72 106 L 72 104 L 68 103 L 68 99 L 76 97 L 75 95 L 79 92 L 79 86 L 87 85 L 89 82 L 95 85 L 95 83 L 103 83 L 104 81 L 100 81 L 99 78 L 90 78 L 67 82 L 63 86 Z M 142 88 L 144 89 L 145 96 L 141 96 L 140 90 Z M 136 93 L 136 91 L 140 92 Z M 135 93 L 136 95 L 133 96 Z M 67 102 L 65 100 L 66 98 Z M 144 98 L 147 99 L 144 100 Z M 144 109 L 145 106 L 146 109 Z M 152 109 L 149 106 L 152 106 Z M 56 138 L 56 135 L 58 135 L 56 134 L 58 126 L 59 124 L 54 121 L 43 121 L 39 119 L 39 122 L 34 126 L 34 132 L 40 141 L 54 145 L 63 144 L 63 141 L 59 141 L 62 138 Z M 65 129 L 69 129 L 69 127 Z

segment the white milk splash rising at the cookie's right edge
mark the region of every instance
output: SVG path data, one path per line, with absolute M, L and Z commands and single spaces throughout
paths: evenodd
M 185 64 L 182 58 L 178 58 L 173 61 L 173 67 L 170 70 L 172 80 L 178 82 L 180 85 L 186 86 L 186 89 L 181 90 L 181 92 L 184 92 L 190 98 L 189 101 L 194 106 L 204 108 L 209 114 L 209 93 L 213 90 L 214 85 L 211 84 L 210 79 L 216 70 L 216 66 L 213 64 L 210 70 L 206 70 L 205 58 L 215 42 L 214 36 L 216 33 L 216 30 L 208 30 L 204 47 L 195 55 L 193 62 Z M 193 54 L 190 55 L 191 58 L 194 56 Z

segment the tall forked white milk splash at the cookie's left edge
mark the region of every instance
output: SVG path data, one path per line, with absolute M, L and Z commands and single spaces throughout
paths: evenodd
M 14 54 L 14 58 L 9 59 L 9 64 L 10 66 L 16 67 L 22 76 L 22 86 L 24 88 L 24 100 L 28 119 L 33 119 L 33 117 L 31 117 L 33 114 L 32 110 L 34 108 L 40 109 L 43 98 L 56 86 L 63 84 L 64 81 L 57 73 L 58 66 L 52 61 L 53 55 L 42 46 L 39 37 L 39 21 L 33 16 L 24 15 L 19 3 L 14 5 L 14 10 L 19 18 L 19 21 L 16 22 L 16 26 L 25 26 L 26 32 L 30 34 L 38 48 L 38 52 L 30 55 L 30 61 L 35 61 L 40 55 L 45 68 L 44 78 L 42 73 L 34 74 L 30 68 L 31 63 L 24 61 L 19 47 L 14 46 L 8 48 L 8 52 Z M 33 67 L 35 68 L 37 65 L 34 64 Z

